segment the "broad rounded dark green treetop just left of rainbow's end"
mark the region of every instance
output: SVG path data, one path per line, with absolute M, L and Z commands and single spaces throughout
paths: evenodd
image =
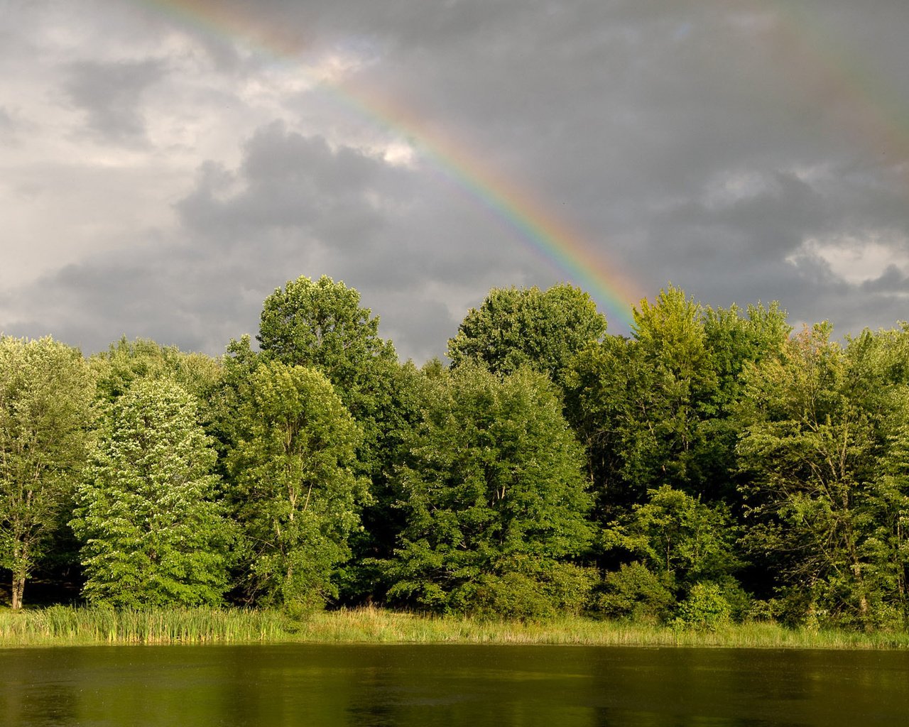
M 590 295 L 569 284 L 493 288 L 448 341 L 452 367 L 482 364 L 494 373 L 527 366 L 561 385 L 574 354 L 599 341 L 606 319 Z

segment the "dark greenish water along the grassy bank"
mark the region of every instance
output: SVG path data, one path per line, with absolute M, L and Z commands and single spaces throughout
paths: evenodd
M 909 653 L 582 646 L 0 650 L 10 725 L 899 725 Z

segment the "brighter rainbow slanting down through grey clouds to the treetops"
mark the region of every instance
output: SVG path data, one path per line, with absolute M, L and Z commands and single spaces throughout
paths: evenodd
M 284 28 L 265 24 L 223 0 L 140 0 L 140 4 L 206 34 L 239 38 L 281 60 L 295 60 L 303 49 L 301 40 Z M 582 234 L 534 194 L 496 174 L 464 145 L 435 133 L 405 107 L 349 83 L 334 83 L 329 90 L 337 103 L 356 115 L 405 137 L 422 158 L 511 228 L 535 254 L 591 294 L 614 323 L 630 328 L 632 305 L 642 297 L 638 285 L 616 264 L 606 264 Z

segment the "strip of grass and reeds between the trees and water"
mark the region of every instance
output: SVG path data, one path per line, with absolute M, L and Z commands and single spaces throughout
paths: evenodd
M 536 643 L 604 646 L 904 649 L 909 634 L 787 629 L 774 623 L 679 631 L 665 626 L 564 618 L 524 623 L 440 618 L 381 609 L 319 612 L 185 609 L 111 611 L 52 606 L 0 611 L 0 646 L 92 643 Z

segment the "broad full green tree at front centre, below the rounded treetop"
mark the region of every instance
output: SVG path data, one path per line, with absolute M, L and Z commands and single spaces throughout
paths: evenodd
M 467 364 L 434 381 L 400 473 L 407 524 L 389 596 L 439 611 L 576 609 L 589 583 L 570 561 L 590 543 L 590 503 L 552 384 Z

